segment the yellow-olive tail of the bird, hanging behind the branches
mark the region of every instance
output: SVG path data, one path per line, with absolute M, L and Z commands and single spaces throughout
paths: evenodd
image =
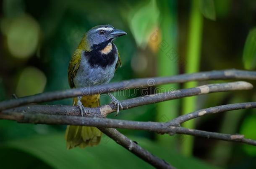
M 99 106 L 99 94 L 93 96 L 83 96 L 81 102 L 85 107 Z M 74 98 L 73 105 L 76 105 L 77 98 Z M 65 139 L 67 149 L 72 149 L 76 146 L 84 148 L 86 146 L 96 146 L 100 142 L 102 132 L 96 127 L 88 126 L 67 126 Z

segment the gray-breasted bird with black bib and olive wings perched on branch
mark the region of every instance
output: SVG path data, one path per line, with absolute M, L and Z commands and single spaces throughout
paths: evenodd
M 127 35 L 123 30 L 112 25 L 98 25 L 88 30 L 68 65 L 68 83 L 71 88 L 85 88 L 109 83 L 116 69 L 121 64 L 118 48 L 113 43 L 115 38 Z M 111 103 L 115 104 L 117 114 L 123 109 L 115 96 L 108 93 Z M 78 96 L 73 99 L 73 106 L 78 106 L 81 116 L 87 113 L 86 107 L 99 106 L 100 95 Z M 65 132 L 67 149 L 76 146 L 96 146 L 99 144 L 102 132 L 96 127 L 68 125 Z

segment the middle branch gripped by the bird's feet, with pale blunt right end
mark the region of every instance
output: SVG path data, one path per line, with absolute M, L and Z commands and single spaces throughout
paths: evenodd
M 178 98 L 183 98 L 187 96 L 196 96 L 200 94 L 221 92 L 221 91 L 234 91 L 234 90 L 248 90 L 251 89 L 251 83 L 247 82 L 232 82 L 232 83 L 219 83 L 219 84 L 209 84 L 204 86 L 199 86 L 195 88 L 181 89 L 166 93 L 157 93 L 137 98 L 130 98 L 121 101 L 123 105 L 123 110 L 133 108 L 136 106 L 147 105 L 151 103 L 157 103 L 161 101 L 173 100 Z M 115 106 L 113 103 L 95 107 L 87 108 L 88 113 L 84 114 L 87 117 L 106 117 L 108 114 L 115 112 Z M 74 115 L 80 116 L 79 109 L 76 106 L 64 106 L 64 105 L 29 105 L 13 109 L 8 109 L 6 111 L 14 112 L 27 112 L 27 113 L 48 113 L 54 112 L 56 115 Z M 4 111 L 5 112 L 5 111 Z

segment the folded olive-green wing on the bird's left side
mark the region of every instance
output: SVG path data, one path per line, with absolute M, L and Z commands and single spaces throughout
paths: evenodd
M 68 83 L 71 88 L 75 87 L 73 79 L 76 76 L 76 72 L 79 68 L 80 62 L 81 62 L 81 50 L 76 49 L 68 65 Z

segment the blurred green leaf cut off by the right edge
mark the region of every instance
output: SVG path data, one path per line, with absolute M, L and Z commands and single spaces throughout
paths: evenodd
M 243 64 L 246 69 L 256 67 L 256 28 L 253 28 L 246 38 L 243 49 Z

